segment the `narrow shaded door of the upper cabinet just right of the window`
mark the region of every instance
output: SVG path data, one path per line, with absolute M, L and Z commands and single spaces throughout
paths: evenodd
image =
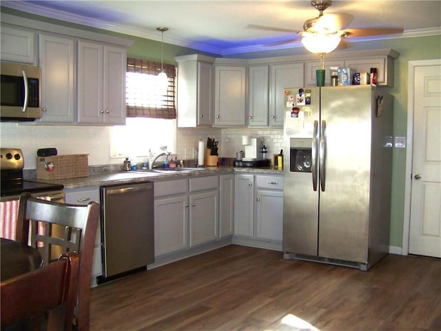
M 213 124 L 213 66 L 210 63 L 198 62 L 198 126 Z

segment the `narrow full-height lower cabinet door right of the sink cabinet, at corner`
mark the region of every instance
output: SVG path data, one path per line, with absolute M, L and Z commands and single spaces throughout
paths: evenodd
M 219 237 L 226 237 L 234 231 L 234 176 L 221 174 L 219 177 Z

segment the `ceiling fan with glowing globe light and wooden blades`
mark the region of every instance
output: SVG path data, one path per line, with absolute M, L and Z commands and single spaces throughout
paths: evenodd
M 383 34 L 399 34 L 403 32 L 403 29 L 400 28 L 347 28 L 353 20 L 353 15 L 345 13 L 323 14 L 326 8 L 331 6 L 331 4 L 332 1 L 330 0 L 311 1 L 311 6 L 316 8 L 319 14 L 318 17 L 314 17 L 314 19 L 307 19 L 307 21 L 303 23 L 303 31 L 274 28 L 271 26 L 259 26 L 255 24 L 249 24 L 248 27 L 260 30 L 296 33 L 297 36 L 294 39 L 289 39 L 287 41 L 281 41 L 278 43 L 271 43 L 271 45 L 282 45 L 301 39 L 307 50 L 316 53 L 331 52 L 337 47 L 347 48 L 346 43 L 343 40 L 347 37 L 372 37 Z M 331 42 L 332 45 L 328 48 L 323 48 L 323 43 L 325 40 Z M 314 46 L 320 47 L 316 48 Z

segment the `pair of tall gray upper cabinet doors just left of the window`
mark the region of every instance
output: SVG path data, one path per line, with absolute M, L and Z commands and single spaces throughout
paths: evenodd
M 78 121 L 125 124 L 126 50 L 78 43 Z

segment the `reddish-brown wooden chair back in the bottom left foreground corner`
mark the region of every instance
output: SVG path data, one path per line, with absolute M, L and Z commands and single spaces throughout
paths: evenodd
M 2 330 L 14 324 L 25 330 L 41 330 L 42 325 L 48 331 L 72 330 L 78 270 L 79 256 L 69 252 L 50 265 L 2 281 Z

